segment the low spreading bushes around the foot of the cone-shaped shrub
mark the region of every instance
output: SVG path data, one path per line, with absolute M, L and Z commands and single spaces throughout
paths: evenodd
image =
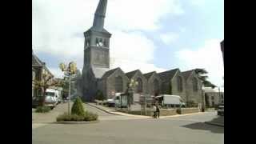
M 96 121 L 96 120 L 98 120 L 98 115 L 87 112 L 87 111 L 85 112 L 85 115 L 83 115 L 83 116 L 77 115 L 77 114 L 68 115 L 68 114 L 64 113 L 62 115 L 59 115 L 56 118 L 57 122 L 65 122 L 65 121 L 82 122 L 82 121 Z

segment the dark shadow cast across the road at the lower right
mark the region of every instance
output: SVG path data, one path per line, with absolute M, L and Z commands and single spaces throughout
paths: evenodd
M 220 133 L 220 134 L 224 133 L 223 127 L 207 125 L 204 122 L 195 122 L 195 123 L 191 123 L 189 125 L 185 125 L 182 127 L 186 127 L 186 128 L 193 129 L 193 130 L 210 130 L 213 133 Z

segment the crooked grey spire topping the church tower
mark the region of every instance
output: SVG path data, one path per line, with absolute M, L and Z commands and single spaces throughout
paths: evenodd
M 104 18 L 106 15 L 106 3 L 107 0 L 100 0 L 98 2 L 97 10 L 94 14 L 94 28 L 102 30 L 104 27 Z

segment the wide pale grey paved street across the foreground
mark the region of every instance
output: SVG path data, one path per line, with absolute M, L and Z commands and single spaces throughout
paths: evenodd
M 129 118 L 106 114 L 91 106 L 100 122 L 91 124 L 45 124 L 32 129 L 34 144 L 222 144 L 224 128 L 207 125 L 216 111 L 175 118 Z M 56 109 L 57 110 L 57 109 Z M 39 124 L 39 123 L 38 123 Z

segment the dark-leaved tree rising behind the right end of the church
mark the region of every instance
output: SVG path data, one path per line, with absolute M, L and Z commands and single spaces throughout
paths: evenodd
M 198 78 L 202 81 L 202 84 L 206 87 L 212 87 L 215 88 L 213 83 L 207 80 L 208 76 L 205 74 L 208 74 L 208 72 L 205 69 L 194 69 L 194 72 L 198 75 Z

